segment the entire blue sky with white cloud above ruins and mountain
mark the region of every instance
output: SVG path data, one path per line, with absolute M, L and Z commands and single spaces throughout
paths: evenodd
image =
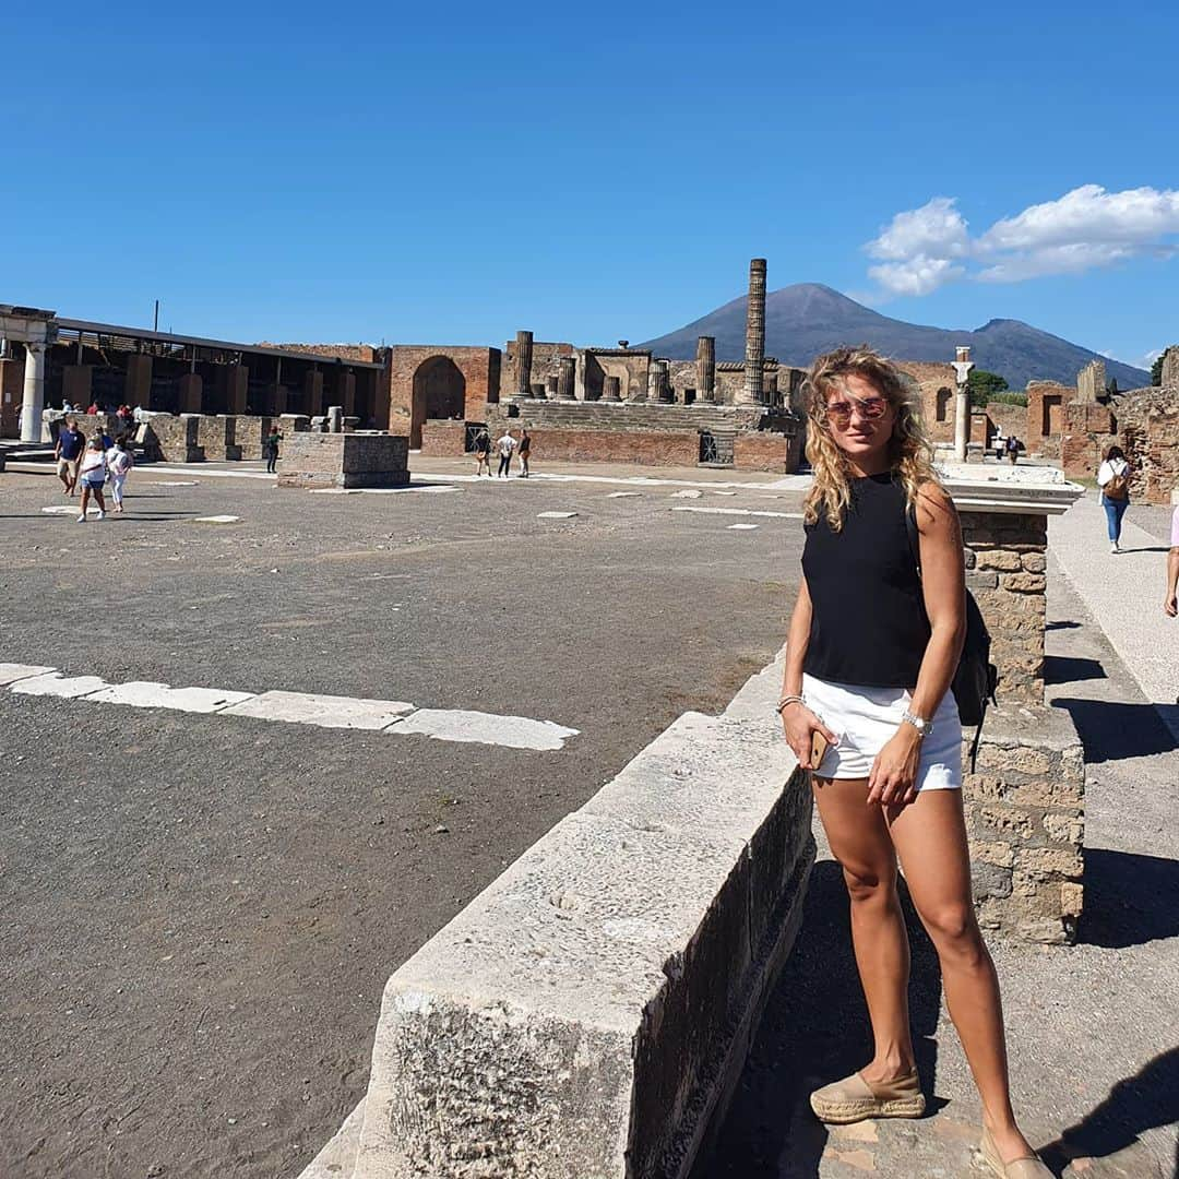
M 65 0 L 5 55 L 0 302 L 612 343 L 764 255 L 920 323 L 1179 340 L 1179 6 L 806 7 Z

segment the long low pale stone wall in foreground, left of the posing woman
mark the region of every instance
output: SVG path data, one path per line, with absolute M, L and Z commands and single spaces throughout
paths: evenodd
M 780 674 L 680 717 L 393 975 L 363 1114 L 307 1179 L 687 1174 L 815 855 Z

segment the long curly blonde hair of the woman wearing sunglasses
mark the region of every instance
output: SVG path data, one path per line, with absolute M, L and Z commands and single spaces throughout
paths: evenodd
M 851 502 L 851 486 L 848 456 L 828 428 L 826 400 L 831 390 L 842 388 L 851 375 L 868 381 L 893 409 L 889 466 L 901 480 L 910 507 L 916 502 L 917 488 L 922 483 L 929 480 L 937 482 L 934 449 L 922 428 L 911 386 L 901 370 L 867 344 L 825 353 L 815 360 L 803 381 L 808 420 L 806 460 L 815 472 L 815 482 L 803 502 L 803 519 L 806 523 L 815 523 L 823 513 L 832 532 L 843 528 L 843 518 Z

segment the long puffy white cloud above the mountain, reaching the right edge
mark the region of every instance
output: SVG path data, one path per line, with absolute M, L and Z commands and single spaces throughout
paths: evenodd
M 928 295 L 956 279 L 1016 283 L 1079 275 L 1131 258 L 1179 252 L 1179 190 L 1106 192 L 1085 184 L 1029 205 L 979 237 L 953 197 L 897 213 L 864 249 L 869 276 L 888 295 Z

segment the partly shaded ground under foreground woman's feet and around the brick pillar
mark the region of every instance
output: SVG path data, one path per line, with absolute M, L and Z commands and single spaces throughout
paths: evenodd
M 1099 568 L 1101 546 L 1092 553 L 1081 588 L 1111 575 Z M 1155 582 L 1119 568 L 1127 614 L 1161 618 Z M 1048 698 L 1073 717 L 1088 764 L 1086 908 L 1078 946 L 992 947 L 1016 1108 L 1055 1174 L 1165 1179 L 1179 1175 L 1179 751 L 1055 559 L 1048 618 Z M 1155 633 L 1175 650 L 1173 637 Z M 911 909 L 914 1032 L 933 1112 L 830 1133 L 810 1114 L 812 1088 L 870 1055 L 847 896 L 816 829 L 821 862 L 797 948 L 697 1179 L 989 1173 L 975 1151 L 977 1096 L 936 956 Z

